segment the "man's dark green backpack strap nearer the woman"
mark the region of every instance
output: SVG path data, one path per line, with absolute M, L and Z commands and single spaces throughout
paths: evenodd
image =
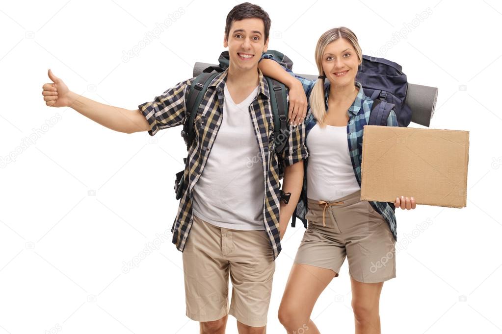
M 280 155 L 289 138 L 287 88 L 283 83 L 277 80 L 269 77 L 265 78 L 269 84 L 276 153 Z M 277 126 L 278 124 L 279 126 Z

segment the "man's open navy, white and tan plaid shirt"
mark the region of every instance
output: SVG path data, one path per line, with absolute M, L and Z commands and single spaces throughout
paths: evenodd
M 171 228 L 171 232 L 173 232 L 172 241 L 180 251 L 183 251 L 185 248 L 193 224 L 192 189 L 204 171 L 211 147 L 221 125 L 223 89 L 227 73 L 228 69 L 218 74 L 209 84 L 195 116 L 195 140 L 188 150 L 187 165 L 184 171 L 185 182 L 188 182 L 187 190 L 181 196 L 178 214 Z M 187 88 L 191 86 L 193 79 L 182 81 L 165 91 L 162 95 L 157 96 L 153 102 L 146 102 L 138 106 L 152 128 L 148 131 L 151 136 L 155 135 L 160 129 L 182 125 L 185 122 L 185 96 Z M 259 91 L 256 98 L 249 105 L 249 114 L 260 148 L 261 156 L 259 160 L 261 160 L 263 165 L 263 182 L 265 184 L 263 219 L 265 233 L 270 239 L 275 260 L 281 252 L 279 235 L 279 180 L 283 177 L 280 174 L 283 173 L 279 171 L 279 163 L 283 166 L 290 166 L 308 157 L 308 151 L 305 147 L 305 125 L 290 126 L 288 142 L 285 145 L 282 156 L 278 157 L 275 150 L 269 87 L 261 71 L 259 71 Z

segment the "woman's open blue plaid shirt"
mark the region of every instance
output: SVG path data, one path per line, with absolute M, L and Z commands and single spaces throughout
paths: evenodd
M 273 55 L 264 54 L 262 55 L 262 59 L 272 59 L 277 61 Z M 279 62 L 278 62 L 279 63 Z M 303 85 L 303 89 L 305 90 L 305 94 L 307 95 L 307 99 L 310 98 L 310 93 L 314 88 L 316 80 L 307 80 L 300 76 L 295 75 L 291 70 L 283 68 L 291 75 L 296 77 Z M 354 175 L 359 184 L 361 186 L 361 157 L 362 157 L 362 135 L 363 135 L 363 127 L 367 125 L 369 120 L 369 114 L 371 112 L 371 106 L 373 105 L 373 100 L 364 95 L 364 91 L 360 83 L 356 82 L 355 85 L 359 88 L 359 92 L 355 97 L 354 102 L 348 109 L 349 120 L 347 123 L 347 142 L 348 149 L 350 154 L 350 161 L 352 162 L 352 167 L 354 169 Z M 327 112 L 327 103 L 329 96 L 329 81 L 325 80 L 324 83 L 324 97 L 326 103 L 326 112 Z M 307 135 L 309 131 L 316 124 L 316 120 L 314 115 L 312 114 L 312 110 L 310 105 L 307 110 L 307 116 L 305 117 L 306 124 L 306 132 Z M 396 113 L 394 110 L 389 114 L 389 118 L 387 119 L 387 126 L 399 126 L 398 120 L 396 117 Z M 305 227 L 307 227 L 307 220 L 305 219 L 305 215 L 307 214 L 307 166 L 308 159 L 304 162 L 304 179 L 303 179 L 303 189 L 302 194 L 300 196 L 300 200 L 298 201 L 298 205 L 296 207 L 295 213 L 293 214 L 293 222 L 294 226 L 295 218 L 298 217 L 302 220 Z M 390 202 L 378 202 L 378 201 L 368 201 L 369 204 L 373 207 L 373 209 L 380 213 L 384 219 L 389 224 L 389 228 L 394 236 L 394 239 L 397 240 L 397 226 L 396 226 L 396 214 L 394 207 L 394 203 Z

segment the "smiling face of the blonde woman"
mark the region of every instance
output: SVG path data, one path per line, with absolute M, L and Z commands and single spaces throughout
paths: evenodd
M 340 38 L 326 46 L 322 56 L 322 69 L 329 82 L 336 86 L 354 85 L 359 59 L 354 47 Z

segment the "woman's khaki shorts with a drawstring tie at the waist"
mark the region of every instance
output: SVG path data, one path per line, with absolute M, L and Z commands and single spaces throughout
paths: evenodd
M 360 190 L 325 203 L 308 199 L 307 230 L 294 263 L 331 269 L 337 277 L 347 256 L 350 276 L 359 282 L 396 277 L 396 241 L 384 217 L 360 200 Z

